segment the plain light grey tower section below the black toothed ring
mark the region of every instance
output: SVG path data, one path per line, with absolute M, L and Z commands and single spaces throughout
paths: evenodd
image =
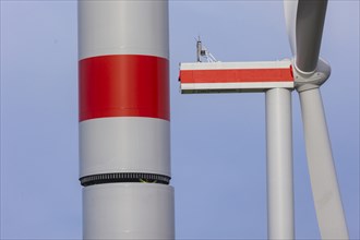
M 84 239 L 175 239 L 173 188 L 107 183 L 83 189 Z

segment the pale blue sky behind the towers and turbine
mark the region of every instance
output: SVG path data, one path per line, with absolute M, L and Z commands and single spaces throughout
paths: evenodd
M 1 239 L 81 238 L 75 1 L 1 1 Z M 171 1 L 178 239 L 265 239 L 264 94 L 181 95 L 201 35 L 220 61 L 290 58 L 281 1 Z M 322 86 L 350 237 L 359 239 L 359 1 L 329 1 Z M 296 237 L 320 237 L 292 93 Z

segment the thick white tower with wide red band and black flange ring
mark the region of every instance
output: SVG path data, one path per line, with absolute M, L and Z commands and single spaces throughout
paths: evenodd
M 79 1 L 84 239 L 173 239 L 168 1 Z

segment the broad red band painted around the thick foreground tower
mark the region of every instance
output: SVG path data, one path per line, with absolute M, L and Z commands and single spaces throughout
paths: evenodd
M 107 117 L 170 120 L 169 61 L 111 55 L 79 62 L 80 121 Z

